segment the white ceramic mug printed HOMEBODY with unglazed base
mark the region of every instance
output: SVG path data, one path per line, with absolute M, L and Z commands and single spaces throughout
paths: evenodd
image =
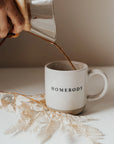
M 73 70 L 68 61 L 56 61 L 45 65 L 46 105 L 54 110 L 79 114 L 88 101 L 102 98 L 108 88 L 106 75 L 98 69 L 88 70 L 87 64 L 72 61 Z M 104 80 L 104 88 L 96 95 L 88 95 L 87 86 L 90 77 L 99 75 Z

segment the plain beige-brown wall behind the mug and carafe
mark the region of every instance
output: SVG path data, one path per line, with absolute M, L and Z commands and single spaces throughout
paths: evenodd
M 73 60 L 114 65 L 114 0 L 55 0 L 57 42 Z M 64 59 L 47 42 L 27 33 L 0 47 L 0 66 L 41 66 Z

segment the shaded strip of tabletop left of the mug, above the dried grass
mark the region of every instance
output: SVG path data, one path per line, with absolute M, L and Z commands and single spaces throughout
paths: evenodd
M 38 94 L 43 89 L 43 68 L 10 68 L 0 70 L 0 91 Z

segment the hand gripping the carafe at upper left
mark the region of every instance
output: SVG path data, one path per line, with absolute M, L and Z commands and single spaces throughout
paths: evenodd
M 20 33 L 24 28 L 24 18 L 14 0 L 0 0 L 0 38 L 7 36 L 11 25 L 12 33 Z

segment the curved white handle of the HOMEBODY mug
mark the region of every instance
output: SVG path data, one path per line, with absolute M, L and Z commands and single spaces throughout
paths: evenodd
M 108 89 L 108 78 L 105 75 L 105 73 L 103 73 L 101 70 L 98 70 L 98 69 L 92 69 L 88 71 L 89 78 L 96 76 L 96 75 L 99 75 L 103 78 L 104 88 L 101 90 L 101 92 L 99 92 L 96 95 L 88 95 L 87 96 L 88 101 L 95 101 L 95 100 L 101 99 L 106 94 L 107 89 Z

